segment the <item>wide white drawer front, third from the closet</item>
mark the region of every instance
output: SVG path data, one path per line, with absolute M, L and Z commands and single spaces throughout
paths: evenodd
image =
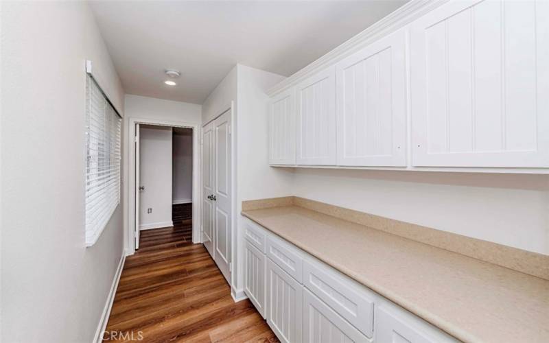
M 303 285 L 364 335 L 373 335 L 373 300 L 331 267 L 303 261 Z

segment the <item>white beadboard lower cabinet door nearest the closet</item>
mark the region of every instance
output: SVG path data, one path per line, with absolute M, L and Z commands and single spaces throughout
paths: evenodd
M 244 292 L 263 318 L 266 316 L 266 261 L 264 253 L 246 241 Z

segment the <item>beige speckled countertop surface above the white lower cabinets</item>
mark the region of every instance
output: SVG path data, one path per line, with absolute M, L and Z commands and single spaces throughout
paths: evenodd
M 549 342 L 549 281 L 299 206 L 242 215 L 465 342 Z

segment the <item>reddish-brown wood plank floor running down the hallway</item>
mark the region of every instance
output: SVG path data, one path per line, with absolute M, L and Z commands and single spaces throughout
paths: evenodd
M 174 209 L 173 228 L 141 233 L 139 250 L 126 259 L 104 342 L 278 342 L 249 300 L 234 303 L 204 246 L 192 244 L 190 209 Z

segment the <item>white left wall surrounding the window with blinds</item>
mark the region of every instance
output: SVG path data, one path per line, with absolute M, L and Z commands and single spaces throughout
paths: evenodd
M 84 241 L 86 59 L 119 109 L 124 90 L 85 2 L 1 11 L 4 342 L 91 342 L 123 254 L 121 205 Z

